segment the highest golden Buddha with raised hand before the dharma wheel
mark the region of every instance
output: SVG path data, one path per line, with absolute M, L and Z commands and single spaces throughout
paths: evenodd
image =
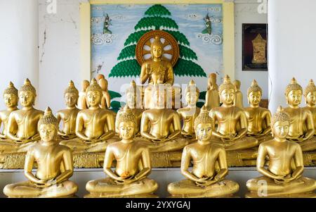
M 152 59 L 145 61 L 140 69 L 140 82 L 145 84 L 148 80 L 148 86 L 144 91 L 145 108 L 152 108 L 151 97 L 154 89 L 152 85 L 159 85 L 163 89 L 171 91 L 172 96 L 175 95 L 172 88 L 174 82 L 173 67 L 169 61 L 163 59 L 164 48 L 160 37 L 154 38 L 154 42 L 150 45 L 150 54 Z

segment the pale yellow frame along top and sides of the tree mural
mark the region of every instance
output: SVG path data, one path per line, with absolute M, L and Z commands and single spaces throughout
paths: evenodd
M 157 4 L 156 0 L 90 0 L 80 4 L 80 73 L 91 80 L 91 5 L 93 4 Z M 234 2 L 225 0 L 160 0 L 159 4 L 222 4 L 223 5 L 223 73 L 235 80 Z M 90 70 L 87 72 L 86 70 Z

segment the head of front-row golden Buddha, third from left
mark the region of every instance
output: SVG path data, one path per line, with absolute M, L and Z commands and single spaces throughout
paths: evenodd
M 209 116 L 206 106 L 201 108 L 199 116 L 195 118 L 195 136 L 197 140 L 207 142 L 212 137 L 214 121 Z

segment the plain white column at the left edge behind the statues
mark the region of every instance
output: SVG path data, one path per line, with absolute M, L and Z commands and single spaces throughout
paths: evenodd
M 0 1 L 0 108 L 2 93 L 12 81 L 18 89 L 28 77 L 39 85 L 38 2 Z

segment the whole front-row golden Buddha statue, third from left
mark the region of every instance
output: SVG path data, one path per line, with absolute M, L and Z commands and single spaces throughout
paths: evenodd
M 181 173 L 187 180 L 168 185 L 168 192 L 173 197 L 230 197 L 238 192 L 237 182 L 224 178 L 228 175 L 226 153 L 223 146 L 211 142 L 213 125 L 213 119 L 203 106 L 195 118 L 197 142 L 183 149 Z M 191 162 L 192 173 L 188 170 Z

